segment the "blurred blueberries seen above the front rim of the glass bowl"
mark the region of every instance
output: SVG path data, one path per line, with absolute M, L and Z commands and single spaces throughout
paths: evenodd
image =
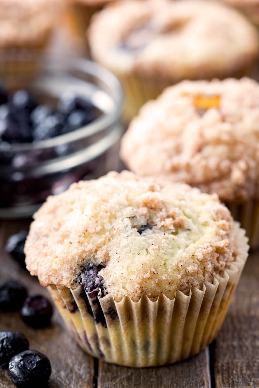
M 73 92 L 64 92 L 56 107 L 39 104 L 27 90 L 8 94 L 0 83 L 0 156 L 10 144 L 31 143 L 72 132 L 96 119 L 96 107 Z M 0 157 L 0 164 L 10 160 Z

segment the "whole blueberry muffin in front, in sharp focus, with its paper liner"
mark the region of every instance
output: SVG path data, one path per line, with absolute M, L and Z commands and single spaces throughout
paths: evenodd
M 247 238 L 217 196 L 129 171 L 71 185 L 35 214 L 26 265 L 82 348 L 107 362 L 185 359 L 219 330 Z

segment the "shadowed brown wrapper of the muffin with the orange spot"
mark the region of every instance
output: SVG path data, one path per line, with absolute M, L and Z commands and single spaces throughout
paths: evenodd
M 243 203 L 225 202 L 234 219 L 246 230 L 252 249 L 259 247 L 259 201 L 249 200 Z

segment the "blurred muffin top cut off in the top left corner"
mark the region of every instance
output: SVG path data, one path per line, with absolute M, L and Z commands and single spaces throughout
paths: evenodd
M 0 48 L 43 43 L 60 0 L 0 0 Z

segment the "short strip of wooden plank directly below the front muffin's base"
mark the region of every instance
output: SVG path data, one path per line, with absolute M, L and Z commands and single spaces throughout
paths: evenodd
M 98 388 L 210 388 L 209 350 L 157 368 L 127 368 L 99 361 Z

